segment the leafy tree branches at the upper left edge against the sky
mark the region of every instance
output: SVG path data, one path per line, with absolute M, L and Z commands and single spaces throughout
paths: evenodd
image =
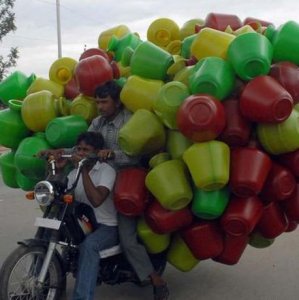
M 0 0 L 0 42 L 9 33 L 16 31 L 15 14 L 12 11 L 15 0 Z M 18 59 L 18 48 L 11 47 L 6 57 L 0 55 L 0 81 L 3 80 L 8 69 L 14 67 Z

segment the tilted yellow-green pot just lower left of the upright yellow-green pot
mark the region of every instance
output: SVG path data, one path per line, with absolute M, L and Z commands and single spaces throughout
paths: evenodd
M 169 210 L 180 210 L 192 200 L 192 190 L 181 160 L 156 165 L 146 176 L 145 184 L 159 203 Z

